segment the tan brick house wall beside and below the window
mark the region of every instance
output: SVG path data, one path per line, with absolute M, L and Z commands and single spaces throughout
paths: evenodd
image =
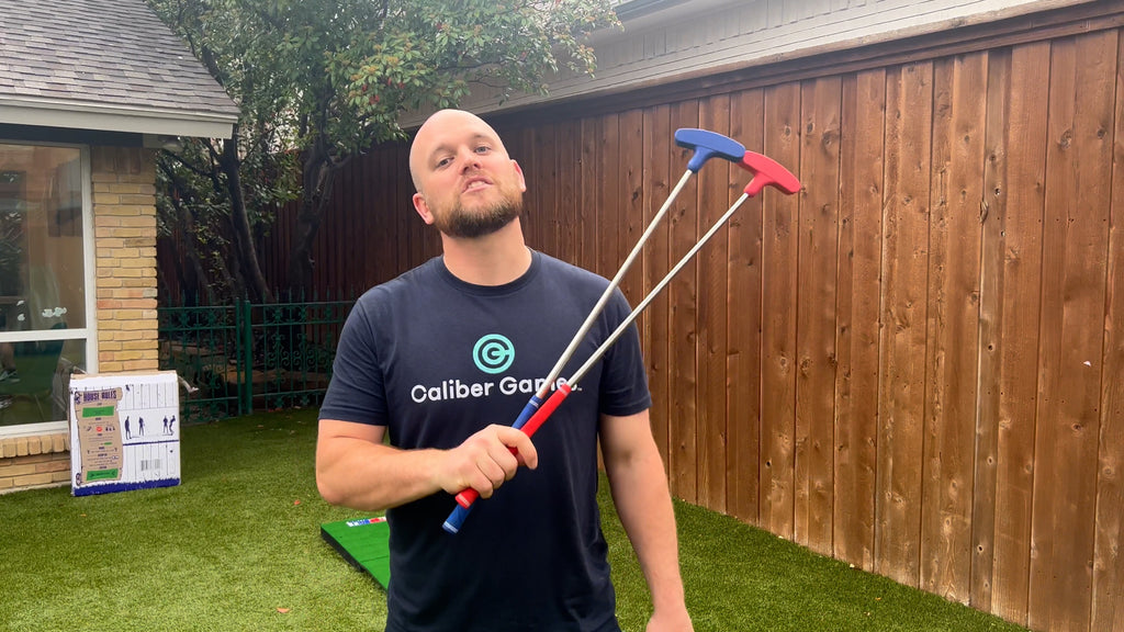
M 156 171 L 139 147 L 91 147 L 98 372 L 154 371 Z M 70 481 L 69 433 L 0 440 L 0 494 Z

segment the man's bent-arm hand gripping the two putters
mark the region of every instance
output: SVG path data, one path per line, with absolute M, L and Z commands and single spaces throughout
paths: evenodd
M 471 487 L 481 498 L 489 498 L 511 480 L 519 466 L 538 466 L 531 437 L 511 426 L 492 424 L 445 452 L 437 484 L 450 494 Z

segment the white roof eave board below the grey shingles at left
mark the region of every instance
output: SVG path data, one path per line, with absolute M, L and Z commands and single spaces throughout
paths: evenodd
M 196 138 L 229 138 L 236 114 L 0 97 L 0 123 Z

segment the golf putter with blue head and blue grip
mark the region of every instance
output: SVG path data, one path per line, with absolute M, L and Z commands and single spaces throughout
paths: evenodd
M 683 171 L 683 174 L 679 179 L 679 182 L 671 190 L 671 193 L 668 196 L 668 199 L 664 200 L 663 206 L 661 206 L 660 210 L 655 214 L 654 217 L 652 217 L 652 220 L 649 223 L 647 228 L 644 229 L 644 234 L 641 235 L 640 240 L 636 242 L 636 245 L 633 246 L 632 252 L 629 252 L 628 256 L 625 258 L 624 263 L 620 264 L 620 269 L 617 270 L 616 276 L 613 278 L 611 281 L 609 281 L 608 287 L 605 288 L 605 291 L 601 294 L 601 297 L 598 299 L 597 304 L 593 305 L 593 308 L 586 317 L 586 322 L 582 323 L 581 327 L 578 328 L 578 332 L 570 341 L 570 344 L 566 346 L 565 351 L 563 351 L 562 355 L 559 356 L 559 360 L 554 364 L 554 368 L 551 369 L 551 372 L 547 373 L 546 379 L 543 380 L 543 387 L 531 397 L 531 400 L 528 400 L 526 406 L 523 407 L 523 410 L 519 413 L 519 416 L 516 417 L 515 423 L 511 424 L 511 427 L 522 428 L 523 425 L 527 423 L 527 419 L 531 418 L 531 416 L 535 413 L 535 410 L 538 409 L 542 403 L 550 395 L 551 388 L 558 381 L 559 376 L 562 374 L 562 369 L 565 368 L 566 362 L 569 362 L 570 358 L 573 356 L 574 351 L 577 351 L 578 346 L 581 344 L 581 341 L 584 340 L 586 334 L 589 333 L 589 329 L 593 326 L 593 323 L 597 322 L 598 315 L 605 308 L 605 305 L 609 301 L 609 298 L 611 298 L 613 291 L 620 286 L 620 281 L 624 279 L 625 273 L 628 272 L 628 269 L 632 267 L 633 261 L 636 260 L 636 256 L 640 255 L 641 251 L 644 247 L 644 244 L 647 243 L 649 237 L 652 236 L 652 233 L 655 232 L 656 226 L 668 214 L 668 209 L 671 208 L 671 204 L 674 201 L 674 199 L 679 196 L 679 192 L 687 184 L 687 181 L 690 179 L 691 174 L 698 173 L 698 171 L 703 169 L 703 165 L 706 164 L 706 162 L 711 157 L 722 157 L 735 164 L 740 164 L 741 161 L 744 160 L 745 147 L 737 141 L 734 141 L 733 138 L 729 138 L 727 136 L 723 136 L 722 134 L 718 134 L 716 132 L 710 132 L 707 129 L 697 129 L 697 128 L 681 128 L 676 130 L 674 138 L 677 145 L 679 145 L 680 147 L 685 147 L 687 150 L 691 150 L 694 152 L 691 159 L 687 162 L 686 171 Z M 460 531 L 461 525 L 464 523 L 464 518 L 468 517 L 469 515 L 469 511 L 472 507 L 472 503 L 475 502 L 474 496 L 472 497 L 471 500 L 468 500 L 468 503 L 461 502 L 461 498 L 465 497 L 465 495 L 469 494 L 470 491 L 472 494 L 475 494 L 474 489 L 468 489 L 457 495 L 457 507 L 453 508 L 453 513 L 450 514 L 448 520 L 445 521 L 443 525 L 445 531 L 450 533 L 456 533 L 457 531 Z

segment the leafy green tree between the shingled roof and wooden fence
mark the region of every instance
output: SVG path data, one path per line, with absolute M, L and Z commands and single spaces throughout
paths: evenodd
M 164 226 L 211 240 L 187 240 L 196 273 L 264 300 L 253 235 L 279 202 L 300 195 L 288 287 L 305 288 L 335 174 L 401 138 L 402 111 L 455 107 L 473 82 L 545 94 L 560 64 L 591 73 L 584 37 L 618 25 L 608 0 L 148 2 L 242 112 L 230 139 L 161 152 Z

